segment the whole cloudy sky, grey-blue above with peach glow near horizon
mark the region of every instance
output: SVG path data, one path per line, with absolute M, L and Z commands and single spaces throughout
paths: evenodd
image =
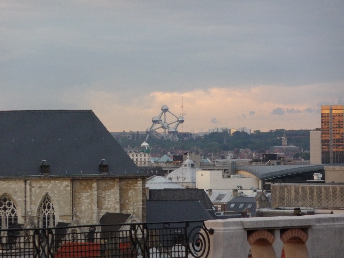
M 4 0 L 0 110 L 92 109 L 111 132 L 162 105 L 185 132 L 314 129 L 344 104 L 343 28 L 344 1 Z

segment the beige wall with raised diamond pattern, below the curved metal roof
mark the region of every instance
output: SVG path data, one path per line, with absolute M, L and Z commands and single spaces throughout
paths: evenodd
M 344 185 L 271 185 L 271 206 L 344 208 Z

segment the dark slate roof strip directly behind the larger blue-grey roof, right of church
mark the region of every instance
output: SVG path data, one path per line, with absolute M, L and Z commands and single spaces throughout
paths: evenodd
M 206 209 L 213 209 L 207 193 L 203 189 L 162 189 L 149 190 L 149 200 L 153 201 L 200 201 Z

